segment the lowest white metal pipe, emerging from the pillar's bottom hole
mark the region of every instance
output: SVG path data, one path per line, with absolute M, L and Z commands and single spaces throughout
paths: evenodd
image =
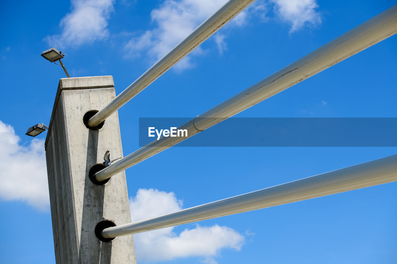
M 191 207 L 171 214 L 106 228 L 102 231 L 102 236 L 111 238 L 135 234 L 394 181 L 397 181 L 397 155 Z

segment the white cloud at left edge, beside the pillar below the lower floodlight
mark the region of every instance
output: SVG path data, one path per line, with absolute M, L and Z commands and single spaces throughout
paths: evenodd
M 50 198 L 44 140 L 33 139 L 26 147 L 20 141 L 13 127 L 0 121 L 0 197 L 46 210 Z

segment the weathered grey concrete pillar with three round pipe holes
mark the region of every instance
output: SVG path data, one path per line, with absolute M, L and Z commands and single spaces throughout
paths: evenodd
M 102 220 L 131 222 L 125 173 L 102 186 L 88 178 L 107 149 L 111 159 L 123 156 L 117 112 L 100 130 L 83 123 L 115 97 L 112 76 L 60 79 L 46 138 L 56 263 L 136 263 L 132 235 L 102 242 L 94 234 Z

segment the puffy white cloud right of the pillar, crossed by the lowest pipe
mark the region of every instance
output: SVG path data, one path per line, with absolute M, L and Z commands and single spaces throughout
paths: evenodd
M 130 198 L 131 218 L 143 220 L 182 209 L 182 201 L 173 192 L 139 189 Z M 222 249 L 240 250 L 244 236 L 227 226 L 200 226 L 185 229 L 179 235 L 173 227 L 134 235 L 138 261 L 158 262 L 175 258 L 200 257 L 204 263 L 217 263 L 214 257 Z M 205 243 L 203 243 L 205 241 Z

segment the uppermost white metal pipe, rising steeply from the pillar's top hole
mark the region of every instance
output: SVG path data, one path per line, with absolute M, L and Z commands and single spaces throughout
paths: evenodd
M 255 0 L 230 0 L 88 121 L 95 127 L 168 71 Z

